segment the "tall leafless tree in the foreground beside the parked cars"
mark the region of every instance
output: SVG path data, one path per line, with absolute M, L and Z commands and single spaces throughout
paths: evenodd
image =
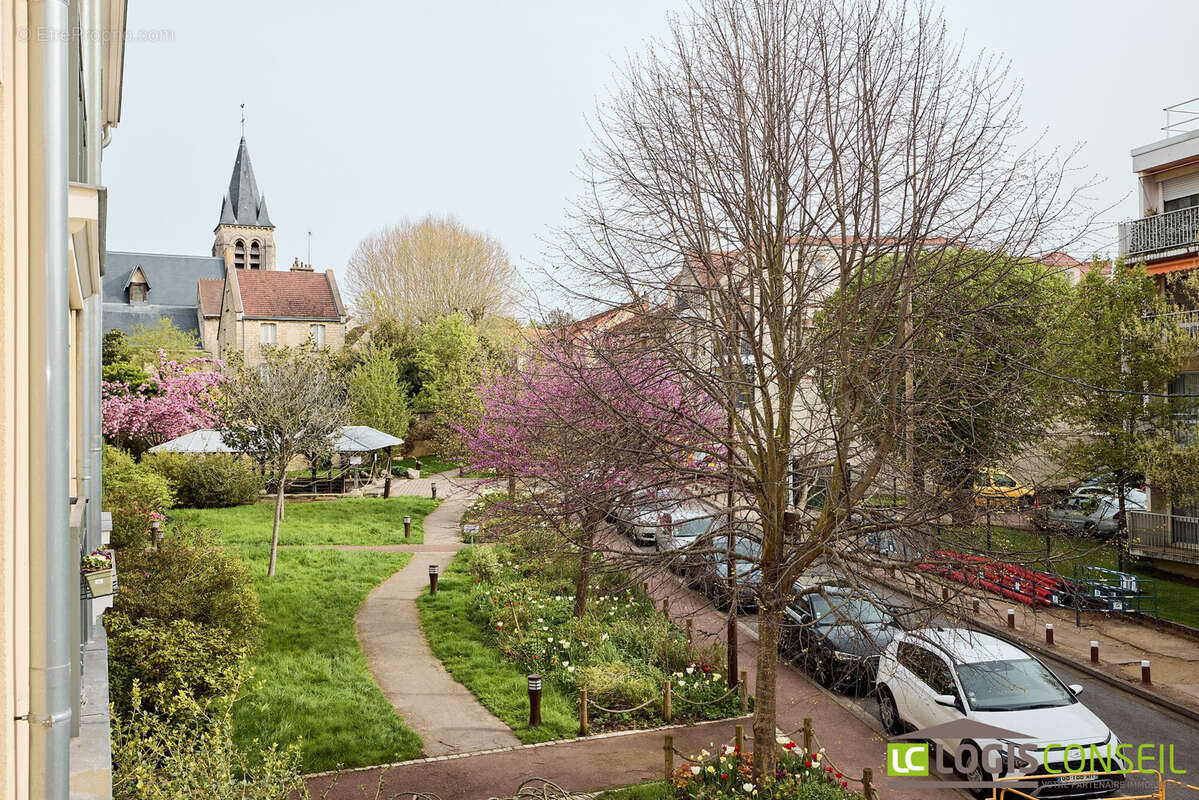
M 793 585 L 818 563 L 870 575 L 888 561 L 862 536 L 940 519 L 923 465 L 944 426 L 927 421 L 969 426 L 986 408 L 971 397 L 1025 369 L 1011 337 L 1038 329 L 976 333 L 1000 303 L 1029 314 L 1042 293 L 995 287 L 1085 230 L 1068 157 L 1018 146 L 1004 65 L 902 1 L 701 0 L 627 65 L 596 131 L 559 285 L 644 308 L 657 351 L 728 411 L 710 455 L 729 459 L 729 513 L 760 529 L 754 771 L 770 775 Z M 1004 427 L 1036 426 L 1014 408 Z M 906 506 L 879 515 L 866 501 L 897 470 Z

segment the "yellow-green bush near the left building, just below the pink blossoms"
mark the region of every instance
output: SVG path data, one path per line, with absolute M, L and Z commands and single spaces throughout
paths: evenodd
M 104 445 L 103 500 L 113 512 L 113 547 L 141 547 L 149 543 L 150 523 L 161 521 L 175 495 L 170 483 L 119 447 Z

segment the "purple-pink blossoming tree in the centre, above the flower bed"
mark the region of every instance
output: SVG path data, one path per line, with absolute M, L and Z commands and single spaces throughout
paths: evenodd
M 701 480 L 712 410 L 661 359 L 601 344 L 543 344 L 512 374 L 478 387 L 482 411 L 463 427 L 475 469 L 526 488 L 506 510 L 571 537 L 579 549 L 574 615 L 586 610 L 596 533 L 614 499 Z

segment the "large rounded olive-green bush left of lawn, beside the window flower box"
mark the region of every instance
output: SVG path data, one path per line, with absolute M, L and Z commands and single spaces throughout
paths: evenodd
M 249 570 L 201 528 L 169 530 L 161 549 L 121 554 L 113 613 L 131 622 L 186 620 L 217 627 L 237 645 L 258 639 L 263 618 Z

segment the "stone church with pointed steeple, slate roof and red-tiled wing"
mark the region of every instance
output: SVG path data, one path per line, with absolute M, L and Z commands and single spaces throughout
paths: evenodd
M 349 315 L 332 270 L 299 259 L 288 270 L 275 266 L 275 223 L 246 137 L 212 233 L 211 255 L 109 253 L 106 330 L 129 332 L 165 317 L 211 355 L 239 353 L 249 363 L 272 345 L 342 347 Z

